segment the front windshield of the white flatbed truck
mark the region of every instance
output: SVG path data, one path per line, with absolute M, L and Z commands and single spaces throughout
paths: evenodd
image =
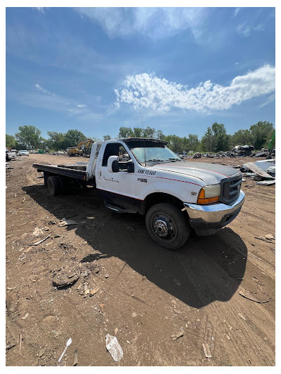
M 181 161 L 181 159 L 171 149 L 161 143 L 155 143 L 152 147 L 130 147 L 131 152 L 138 162 L 164 162 L 164 161 Z

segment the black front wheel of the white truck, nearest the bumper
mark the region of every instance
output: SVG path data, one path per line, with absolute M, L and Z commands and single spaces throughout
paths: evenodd
M 171 203 L 152 206 L 146 213 L 145 225 L 151 239 L 171 251 L 181 248 L 190 236 L 187 217 Z

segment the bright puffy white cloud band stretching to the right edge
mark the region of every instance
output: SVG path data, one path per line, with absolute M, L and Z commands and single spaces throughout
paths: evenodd
M 126 103 L 135 109 L 148 108 L 158 112 L 189 109 L 197 112 L 230 109 L 244 100 L 275 91 L 275 67 L 264 65 L 254 72 L 236 76 L 229 86 L 211 81 L 195 88 L 170 82 L 155 74 L 127 76 L 124 88 L 115 90 L 117 105 Z

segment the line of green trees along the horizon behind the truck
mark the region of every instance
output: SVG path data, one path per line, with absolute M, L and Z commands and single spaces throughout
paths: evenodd
M 226 132 L 223 123 L 214 122 L 208 126 L 206 133 L 200 139 L 197 134 L 164 135 L 162 130 L 155 130 L 150 126 L 120 127 L 117 138 L 155 138 L 166 140 L 174 152 L 220 152 L 228 151 L 235 145 L 253 145 L 259 150 L 268 147 L 268 142 L 274 132 L 273 123 L 259 121 L 247 130 L 238 130 L 233 135 Z M 6 134 L 6 147 L 13 149 L 45 149 L 49 151 L 65 150 L 75 147 L 87 139 L 86 135 L 78 130 L 68 130 L 67 133 L 48 131 L 48 139 L 41 137 L 41 131 L 35 126 L 19 126 L 15 136 Z M 90 137 L 97 141 L 98 138 Z M 103 135 L 103 140 L 110 140 L 110 135 Z M 274 145 L 275 146 L 275 145 Z

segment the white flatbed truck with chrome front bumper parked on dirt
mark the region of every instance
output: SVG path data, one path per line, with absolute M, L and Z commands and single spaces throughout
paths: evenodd
M 242 173 L 230 166 L 180 159 L 167 142 L 126 138 L 94 142 L 89 163 L 44 165 L 44 184 L 52 196 L 71 183 L 96 187 L 107 208 L 145 215 L 148 234 L 160 246 L 183 246 L 191 229 L 214 234 L 228 225 L 244 203 Z M 129 159 L 119 156 L 129 155 Z

